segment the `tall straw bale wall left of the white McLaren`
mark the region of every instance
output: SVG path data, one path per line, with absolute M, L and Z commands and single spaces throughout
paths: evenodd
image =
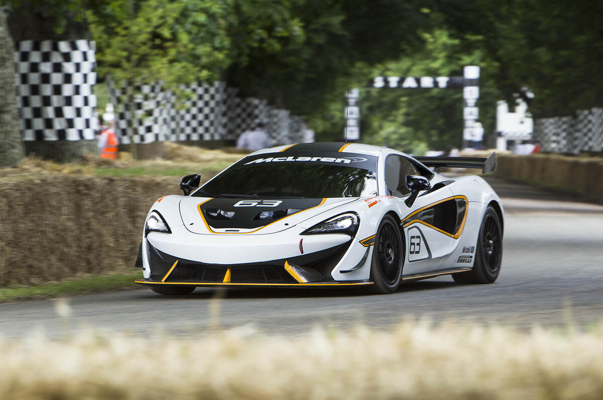
M 42 174 L 0 185 L 0 288 L 133 271 L 145 216 L 178 178 Z

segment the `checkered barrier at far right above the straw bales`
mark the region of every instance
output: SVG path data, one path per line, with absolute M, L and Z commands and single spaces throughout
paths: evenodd
M 575 117 L 538 118 L 532 137 L 540 141 L 543 152 L 601 152 L 603 108 L 580 110 Z

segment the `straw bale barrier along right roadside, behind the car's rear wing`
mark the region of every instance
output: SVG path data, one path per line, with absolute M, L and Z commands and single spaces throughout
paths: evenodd
M 603 199 L 602 158 L 497 154 L 496 163 L 496 173 L 505 178 Z

